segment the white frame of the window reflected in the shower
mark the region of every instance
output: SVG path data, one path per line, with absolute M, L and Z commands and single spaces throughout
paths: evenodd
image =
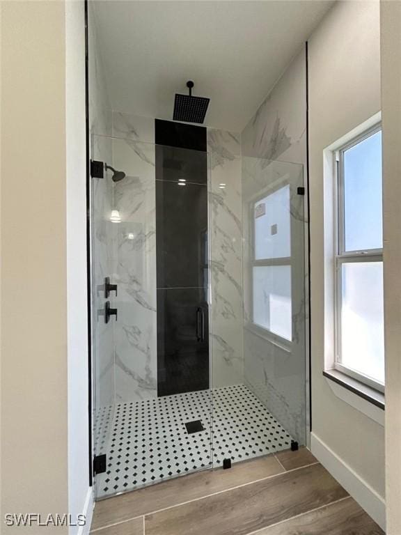
M 279 189 L 282 189 L 283 187 L 289 186 L 290 187 L 290 203 L 291 203 L 291 192 L 292 192 L 292 186 L 290 185 L 290 182 L 287 178 L 284 180 L 280 180 L 274 185 L 271 185 L 267 187 L 262 193 L 258 194 L 255 199 L 252 199 L 249 209 L 251 210 L 250 214 L 250 221 L 252 222 L 251 225 L 251 243 L 252 243 L 252 249 L 251 249 L 251 258 L 250 258 L 250 267 L 249 270 L 249 277 L 250 277 L 250 304 L 251 304 L 251 322 L 249 323 L 248 327 L 255 332 L 255 334 L 258 334 L 259 336 L 262 336 L 263 338 L 271 341 L 276 346 L 279 346 L 283 348 L 284 350 L 290 352 L 292 348 L 292 339 L 294 337 L 294 333 L 291 332 L 291 340 L 288 340 L 284 338 L 283 336 L 280 336 L 276 334 L 275 332 L 272 332 L 270 329 L 266 329 L 265 327 L 262 327 L 262 325 L 259 325 L 258 323 L 255 323 L 253 321 L 253 267 L 259 267 L 259 266 L 290 266 L 291 268 L 291 307 L 292 307 L 292 256 L 284 256 L 280 258 L 263 258 L 261 260 L 256 260 L 255 258 L 255 222 L 254 222 L 254 215 L 255 215 L 255 206 L 262 201 L 262 199 L 265 199 L 265 197 L 274 194 L 274 192 L 277 192 Z M 293 327 L 293 325 L 292 325 Z M 293 328 L 292 328 L 293 330 Z

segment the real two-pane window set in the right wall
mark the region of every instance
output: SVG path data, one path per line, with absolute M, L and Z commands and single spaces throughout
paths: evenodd
M 338 151 L 335 367 L 384 387 L 382 131 Z

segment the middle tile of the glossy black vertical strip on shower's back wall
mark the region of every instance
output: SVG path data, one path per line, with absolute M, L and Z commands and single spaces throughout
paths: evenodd
M 207 187 L 156 183 L 157 288 L 207 285 Z

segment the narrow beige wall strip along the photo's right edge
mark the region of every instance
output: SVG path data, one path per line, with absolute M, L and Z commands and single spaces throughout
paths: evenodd
M 386 533 L 401 533 L 401 3 L 381 2 Z

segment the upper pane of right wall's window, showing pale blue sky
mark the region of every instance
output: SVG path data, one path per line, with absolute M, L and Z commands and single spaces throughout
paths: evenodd
M 381 249 L 382 132 L 344 152 L 345 250 Z

